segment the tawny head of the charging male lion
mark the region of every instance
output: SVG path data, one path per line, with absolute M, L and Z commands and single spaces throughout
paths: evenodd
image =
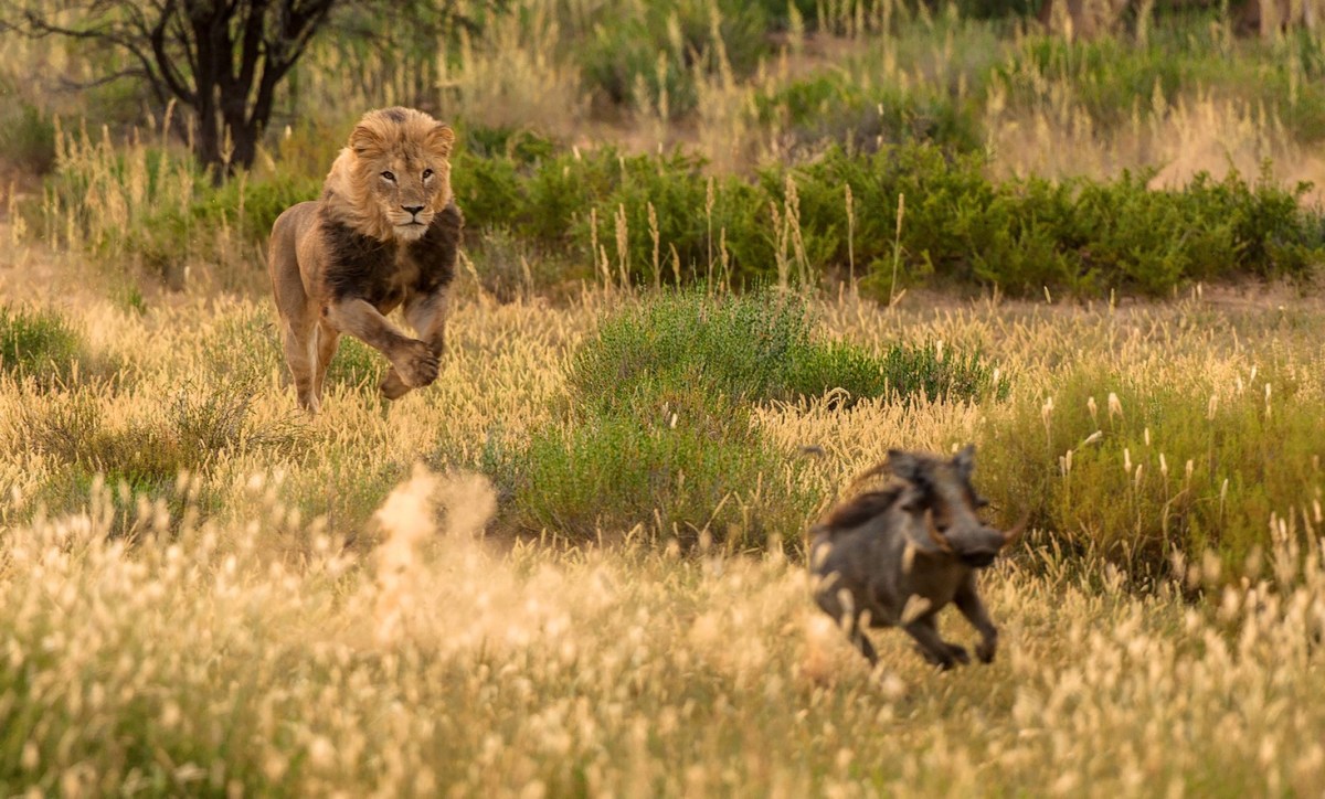
M 350 205 L 339 211 L 375 239 L 421 239 L 452 199 L 454 140 L 450 127 L 421 111 L 370 111 L 327 179 L 329 188 Z

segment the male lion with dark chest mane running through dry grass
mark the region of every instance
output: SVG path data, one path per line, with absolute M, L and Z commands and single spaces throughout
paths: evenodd
M 268 270 L 299 407 L 317 413 L 341 335 L 391 362 L 395 400 L 437 379 L 464 216 L 450 191 L 454 131 L 413 109 L 363 115 L 322 196 L 272 225 Z M 387 314 L 403 309 L 419 338 Z

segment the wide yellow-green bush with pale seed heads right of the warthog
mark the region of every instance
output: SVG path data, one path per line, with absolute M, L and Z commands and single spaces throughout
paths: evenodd
M 1174 551 L 1211 550 L 1240 568 L 1269 550 L 1272 513 L 1325 488 L 1314 392 L 1269 384 L 1267 400 L 1259 383 L 1230 392 L 1071 370 L 1045 387 L 1052 408 L 995 412 L 982 490 L 1007 515 L 1032 511 L 1057 546 L 1093 549 L 1134 574 L 1163 574 Z

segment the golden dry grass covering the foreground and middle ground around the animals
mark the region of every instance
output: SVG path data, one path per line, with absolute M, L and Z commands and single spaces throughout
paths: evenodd
M 888 447 L 979 440 L 1041 403 L 1037 386 L 1069 360 L 1215 383 L 1316 363 L 1320 309 L 1276 299 L 1283 310 L 825 299 L 833 337 L 979 345 L 1016 375 L 1014 398 L 811 403 L 758 424 L 788 454 L 822 445 L 803 478 L 831 490 Z M 494 489 L 456 464 L 547 423 L 563 364 L 612 302 L 461 302 L 435 387 L 388 407 L 333 387 L 325 415 L 299 423 L 298 452 L 240 444 L 199 464 L 130 502 L 131 539 L 109 534 L 114 485 L 40 511 L 66 466 L 3 448 L 4 790 L 1240 795 L 1325 779 L 1325 574 L 1287 523 L 1267 576 L 1195 604 L 1178 584 L 1132 592 L 1125 572 L 1037 531 L 984 578 L 999 661 L 942 676 L 896 632 L 878 635 L 882 668 L 867 673 L 778 554 L 678 557 L 639 529 L 604 531 L 625 538 L 608 549 L 485 539 Z M 289 417 L 265 303 L 93 311 L 90 341 L 130 379 L 44 395 L 0 384 L 0 440 L 76 399 L 109 428 L 151 420 L 182 376 L 201 392 L 257 375 L 254 421 Z

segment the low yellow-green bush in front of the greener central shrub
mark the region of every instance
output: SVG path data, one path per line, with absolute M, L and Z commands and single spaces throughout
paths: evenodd
M 762 441 L 747 408 L 698 394 L 678 404 L 670 395 L 648 416 L 603 413 L 535 433 L 514 523 L 578 541 L 644 525 L 682 546 L 708 531 L 738 550 L 794 538 L 815 498 L 783 488 L 792 464 Z

